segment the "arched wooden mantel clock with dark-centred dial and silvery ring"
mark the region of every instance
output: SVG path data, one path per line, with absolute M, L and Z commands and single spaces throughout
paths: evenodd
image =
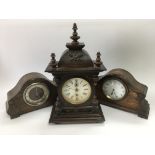
M 16 86 L 7 93 L 6 112 L 10 118 L 51 106 L 55 103 L 55 84 L 37 72 L 21 77 Z

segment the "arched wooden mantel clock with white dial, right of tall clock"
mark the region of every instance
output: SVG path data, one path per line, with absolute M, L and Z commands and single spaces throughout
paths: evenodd
M 145 99 L 148 87 L 128 71 L 116 68 L 100 77 L 96 91 L 100 103 L 147 119 L 150 106 Z

